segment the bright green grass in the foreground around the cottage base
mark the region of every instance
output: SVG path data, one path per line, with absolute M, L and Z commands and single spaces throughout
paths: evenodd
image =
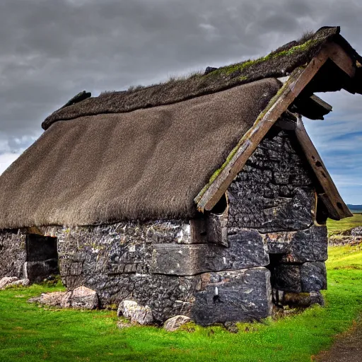
M 30 286 L 0 291 L 0 361 L 310 361 L 327 349 L 362 310 L 362 252 L 329 250 L 325 308 L 240 325 L 165 332 L 156 327 L 117 329 L 114 311 L 42 308 L 30 296 L 61 290 Z

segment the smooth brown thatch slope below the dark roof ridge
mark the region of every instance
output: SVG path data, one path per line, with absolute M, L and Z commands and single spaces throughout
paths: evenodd
M 54 123 L 1 175 L 0 229 L 195 216 L 194 197 L 280 86 Z

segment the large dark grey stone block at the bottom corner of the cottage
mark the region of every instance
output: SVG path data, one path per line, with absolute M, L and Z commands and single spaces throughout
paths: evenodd
M 199 325 L 260 320 L 271 314 L 270 272 L 264 267 L 203 274 L 191 317 Z

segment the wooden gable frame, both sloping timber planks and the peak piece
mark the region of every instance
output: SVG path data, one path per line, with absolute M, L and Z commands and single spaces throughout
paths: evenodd
M 334 42 L 325 45 L 307 66 L 296 68 L 279 92 L 276 93 L 274 98 L 269 101 L 267 107 L 257 117 L 253 126 L 240 139 L 237 146 L 233 148 L 226 162 L 214 173 L 209 183 L 195 197 L 194 202 L 197 204 L 199 211 L 210 211 L 216 205 L 236 175 L 243 169 L 247 159 L 252 156 L 259 143 L 269 129 L 271 129 L 271 126 L 281 117 L 283 112 L 286 112 L 291 103 L 293 103 L 293 100 L 298 97 L 300 92 L 317 74 L 317 71 L 327 62 L 327 59 L 331 59 L 350 77 L 354 77 L 356 74 L 356 64 L 354 64 L 354 61 L 340 45 Z M 298 119 L 296 135 L 323 189 L 319 196 L 329 211 L 329 217 L 339 220 L 352 216 L 351 211 L 349 211 L 339 195 L 325 165 L 322 163 L 315 146 L 307 132 L 305 132 L 301 119 Z

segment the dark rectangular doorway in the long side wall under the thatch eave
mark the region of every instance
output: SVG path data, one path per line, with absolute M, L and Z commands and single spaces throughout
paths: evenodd
M 25 243 L 24 278 L 31 283 L 39 283 L 51 275 L 59 274 L 57 238 L 28 234 Z

